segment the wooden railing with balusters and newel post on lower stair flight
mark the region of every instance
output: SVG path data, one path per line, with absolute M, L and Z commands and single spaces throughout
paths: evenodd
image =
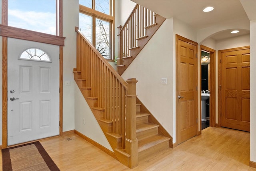
M 112 132 L 122 137 L 121 148 L 130 157 L 129 165 L 138 163 L 138 141 L 136 139 L 136 79 L 125 82 L 103 58 L 96 48 L 75 28 L 77 32 L 76 71 L 84 87 L 91 88 L 91 98 L 97 97 L 93 107 L 104 109 L 103 119 L 112 121 Z

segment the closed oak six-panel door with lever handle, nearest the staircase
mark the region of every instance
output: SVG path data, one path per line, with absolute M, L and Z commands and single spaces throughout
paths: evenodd
M 180 144 L 197 135 L 198 44 L 176 35 L 176 137 Z

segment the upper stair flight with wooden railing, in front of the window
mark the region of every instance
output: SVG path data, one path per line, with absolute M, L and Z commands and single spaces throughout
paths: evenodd
M 128 68 L 166 18 L 136 5 L 124 26 L 118 26 L 117 72 Z

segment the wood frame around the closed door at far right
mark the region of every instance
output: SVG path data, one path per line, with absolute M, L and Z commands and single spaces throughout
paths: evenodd
M 250 49 L 250 46 L 218 50 L 218 126 L 221 127 L 221 56 L 222 53 Z

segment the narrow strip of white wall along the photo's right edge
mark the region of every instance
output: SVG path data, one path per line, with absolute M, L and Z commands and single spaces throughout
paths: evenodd
M 250 21 L 250 57 L 250 161 L 256 162 L 256 20 Z

